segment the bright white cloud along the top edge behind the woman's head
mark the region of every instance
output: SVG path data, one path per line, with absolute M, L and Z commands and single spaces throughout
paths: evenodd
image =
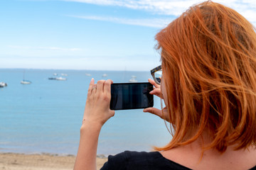
M 198 0 L 63 0 L 75 1 L 86 4 L 95 4 L 102 6 L 122 6 L 124 8 L 132 8 L 137 10 L 149 11 L 170 16 L 179 16 L 186 11 L 189 6 L 201 3 Z M 256 23 L 256 1 L 255 0 L 215 0 L 220 4 L 235 9 L 247 18 L 250 22 Z M 127 21 L 129 23 L 129 21 Z M 147 23 L 147 22 L 146 22 Z

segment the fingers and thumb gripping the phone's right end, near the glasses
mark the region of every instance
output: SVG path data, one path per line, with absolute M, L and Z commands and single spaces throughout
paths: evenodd
M 149 92 L 149 94 L 159 96 L 159 98 L 163 98 L 163 95 L 161 94 L 160 85 L 156 84 L 156 82 L 152 79 L 149 79 L 149 83 L 154 86 L 154 89 Z M 159 110 L 158 108 L 145 108 L 143 112 L 149 112 L 154 115 L 158 115 L 160 118 L 170 122 L 169 113 L 166 107 L 164 107 L 162 110 Z

